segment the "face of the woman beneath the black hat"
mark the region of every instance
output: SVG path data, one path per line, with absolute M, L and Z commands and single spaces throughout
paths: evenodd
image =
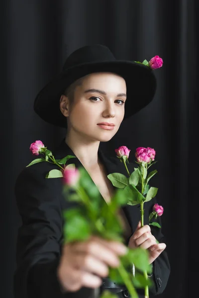
M 121 76 L 112 73 L 85 76 L 75 88 L 73 102 L 68 102 L 68 129 L 88 140 L 109 141 L 123 120 L 125 100 L 126 83 Z

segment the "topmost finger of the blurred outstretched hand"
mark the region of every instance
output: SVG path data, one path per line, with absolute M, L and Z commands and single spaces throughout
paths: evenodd
M 91 241 L 91 242 L 82 242 L 78 243 L 77 246 L 74 246 L 74 254 L 77 253 L 84 254 L 86 256 L 92 255 L 93 257 L 99 259 L 100 261 L 106 263 L 111 267 L 117 267 L 119 265 L 119 258 L 115 252 L 108 249 L 104 245 L 101 245 L 100 242 Z

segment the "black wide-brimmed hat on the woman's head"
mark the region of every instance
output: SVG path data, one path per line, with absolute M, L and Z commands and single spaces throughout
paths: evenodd
M 46 122 L 67 127 L 66 117 L 60 111 L 60 97 L 75 80 L 87 74 L 109 72 L 122 76 L 126 81 L 127 100 L 124 118 L 135 114 L 154 97 L 156 78 L 149 67 L 133 61 L 116 60 L 103 45 L 91 45 L 73 52 L 62 72 L 37 94 L 34 111 Z

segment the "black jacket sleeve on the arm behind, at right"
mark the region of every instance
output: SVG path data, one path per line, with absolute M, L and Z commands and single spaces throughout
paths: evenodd
M 153 198 L 151 201 L 146 202 L 144 204 L 145 209 L 145 223 L 149 223 L 149 214 L 152 212 L 153 205 L 156 204 L 156 198 Z M 157 223 L 161 224 L 161 217 L 157 217 Z M 151 227 L 151 233 L 155 236 L 155 238 L 161 243 L 164 242 L 167 244 L 165 236 L 162 233 L 162 228 L 158 228 L 156 226 Z M 152 295 L 162 294 L 165 290 L 168 279 L 170 276 L 170 262 L 167 255 L 167 248 L 157 257 L 157 259 L 153 262 L 153 275 L 152 279 L 154 281 L 154 287 L 149 289 L 149 292 Z

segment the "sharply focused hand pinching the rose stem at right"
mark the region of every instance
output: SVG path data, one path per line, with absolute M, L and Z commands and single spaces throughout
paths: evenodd
M 141 221 L 139 221 L 136 230 L 129 239 L 128 247 L 148 249 L 149 264 L 151 264 L 163 252 L 166 244 L 157 243 L 156 238 L 151 234 L 150 226 L 146 224 L 141 227 Z

